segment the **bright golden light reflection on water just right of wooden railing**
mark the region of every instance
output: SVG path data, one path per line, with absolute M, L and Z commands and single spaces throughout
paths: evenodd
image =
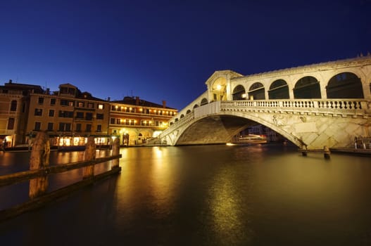
M 175 186 L 168 148 L 121 148 L 120 153 L 119 181 L 123 190 L 119 202 L 127 206 L 126 209 L 146 207 L 159 217 L 168 214 Z

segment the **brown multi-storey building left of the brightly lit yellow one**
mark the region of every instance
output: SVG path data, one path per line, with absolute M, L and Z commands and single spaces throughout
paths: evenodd
M 108 101 L 81 92 L 72 84 L 61 84 L 54 93 L 30 93 L 27 143 L 37 131 L 46 131 L 51 145 L 84 145 L 88 136 L 94 136 L 97 144 L 107 145 L 108 118 Z

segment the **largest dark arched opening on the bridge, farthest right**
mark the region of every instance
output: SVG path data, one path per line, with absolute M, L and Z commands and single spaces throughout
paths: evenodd
M 363 98 L 362 82 L 352 72 L 342 72 L 329 80 L 327 98 Z

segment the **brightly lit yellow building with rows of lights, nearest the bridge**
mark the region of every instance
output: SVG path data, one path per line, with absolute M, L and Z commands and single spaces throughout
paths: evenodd
M 108 134 L 120 137 L 121 145 L 139 145 L 168 128 L 169 120 L 177 115 L 175 108 L 126 96 L 111 101 Z

